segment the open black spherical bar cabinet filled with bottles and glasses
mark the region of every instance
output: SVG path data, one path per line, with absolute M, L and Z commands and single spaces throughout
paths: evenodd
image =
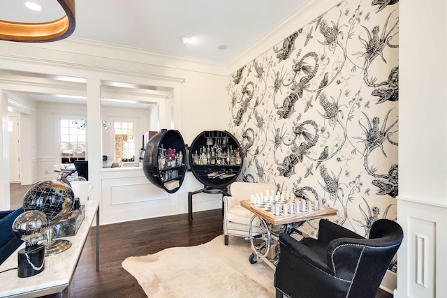
M 181 163 L 176 160 L 174 167 L 166 166 L 161 154 L 174 149 L 175 154 L 182 153 L 183 160 Z M 227 131 L 203 131 L 187 147 L 179 131 L 163 129 L 147 142 L 142 167 L 147 179 L 168 193 L 178 191 L 186 170 L 193 173 L 204 187 L 188 193 L 188 219 L 192 220 L 192 196 L 226 195 L 226 188 L 239 176 L 243 161 L 239 142 Z

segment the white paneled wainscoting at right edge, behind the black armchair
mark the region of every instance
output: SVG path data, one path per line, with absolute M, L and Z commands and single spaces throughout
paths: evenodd
M 397 252 L 395 297 L 445 297 L 447 205 L 400 198 L 397 208 L 404 241 Z

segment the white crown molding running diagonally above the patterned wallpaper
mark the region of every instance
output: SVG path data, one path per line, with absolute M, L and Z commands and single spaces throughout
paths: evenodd
M 270 50 L 274 45 L 281 43 L 284 38 L 340 2 L 341 0 L 307 0 L 279 24 L 249 45 L 244 52 L 231 59 L 228 62 L 228 74 L 230 75 L 242 66 L 249 64 L 250 61 Z

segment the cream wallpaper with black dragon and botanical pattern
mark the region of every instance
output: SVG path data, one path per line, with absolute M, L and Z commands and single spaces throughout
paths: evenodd
M 240 180 L 322 198 L 365 237 L 396 219 L 398 17 L 397 1 L 342 1 L 230 76 Z

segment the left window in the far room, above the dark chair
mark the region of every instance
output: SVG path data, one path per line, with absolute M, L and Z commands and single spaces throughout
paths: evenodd
M 85 160 L 85 128 L 86 126 L 80 125 L 77 120 L 59 120 L 62 163 L 72 163 L 79 159 Z

